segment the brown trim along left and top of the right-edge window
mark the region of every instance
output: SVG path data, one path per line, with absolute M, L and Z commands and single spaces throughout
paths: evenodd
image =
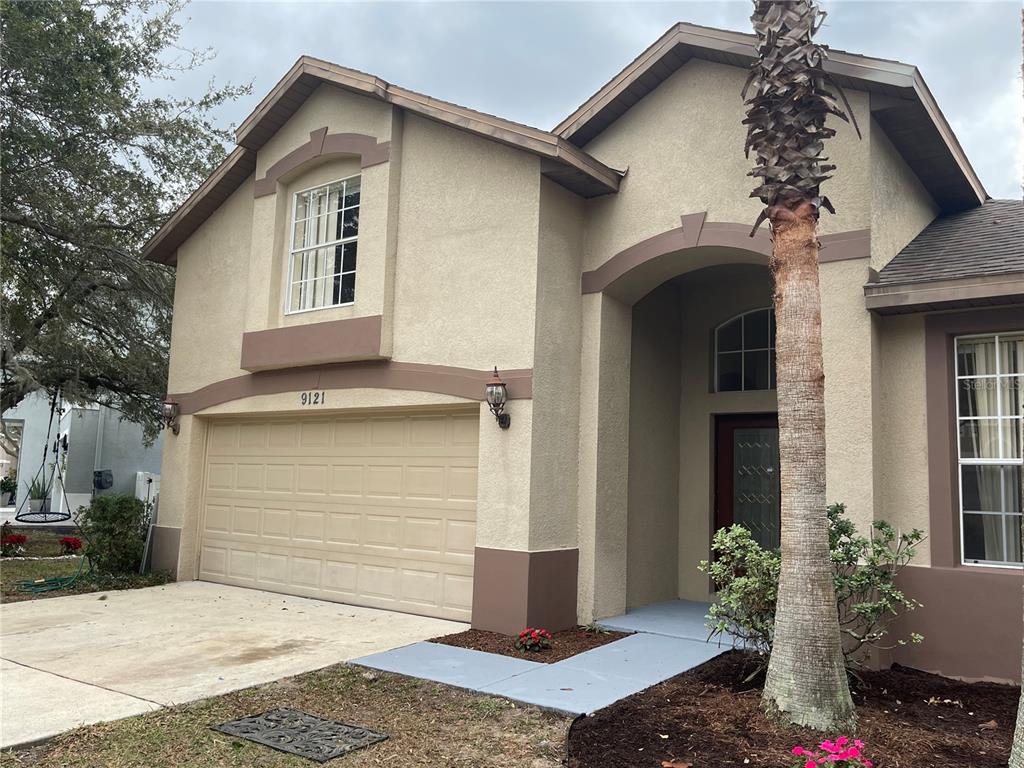
M 961 564 L 953 338 L 966 334 L 1020 331 L 1022 327 L 1024 310 L 1015 307 L 944 312 L 925 318 L 928 538 L 932 565 L 958 567 Z

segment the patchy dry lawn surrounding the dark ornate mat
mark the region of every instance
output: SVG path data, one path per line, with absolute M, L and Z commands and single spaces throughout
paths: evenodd
M 569 717 L 412 678 L 329 667 L 269 685 L 85 726 L 20 752 L 0 768 L 309 768 L 308 760 L 210 730 L 279 707 L 361 725 L 389 738 L 329 765 L 557 768 Z

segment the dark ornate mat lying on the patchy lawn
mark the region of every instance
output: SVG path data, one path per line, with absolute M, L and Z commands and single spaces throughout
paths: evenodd
M 386 733 L 288 709 L 228 720 L 212 728 L 317 763 L 326 763 L 387 738 Z

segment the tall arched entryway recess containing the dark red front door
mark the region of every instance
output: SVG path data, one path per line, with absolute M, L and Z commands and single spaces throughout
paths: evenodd
M 767 267 L 724 263 L 632 307 L 627 608 L 707 600 L 696 565 L 717 526 L 777 531 L 770 303 Z

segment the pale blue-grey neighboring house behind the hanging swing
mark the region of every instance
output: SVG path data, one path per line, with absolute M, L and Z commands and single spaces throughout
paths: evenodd
M 93 473 L 102 470 L 110 472 L 112 483 L 97 493 L 132 494 L 156 502 L 163 434 L 158 435 L 153 445 L 146 446 L 142 427 L 123 421 L 120 413 L 113 409 L 65 403 L 63 413 L 54 414 L 52 420 L 50 410 L 51 400 L 46 393 L 33 392 L 3 414 L 5 424 L 22 429 L 18 455 L 13 458 L 17 469 L 17 498 L 12 502 L 13 507 L 5 510 L 3 519 L 13 520 L 19 510 L 28 509 L 29 486 L 33 479 L 42 477 L 44 461 L 46 477 L 53 476 L 53 445 L 65 435 L 68 450 L 61 475 L 63 494 L 59 485 L 51 492 L 51 509 L 70 509 L 74 515 L 79 507 L 88 506 L 92 499 Z M 141 480 L 139 473 L 143 473 Z M 153 483 L 145 482 L 150 478 Z

